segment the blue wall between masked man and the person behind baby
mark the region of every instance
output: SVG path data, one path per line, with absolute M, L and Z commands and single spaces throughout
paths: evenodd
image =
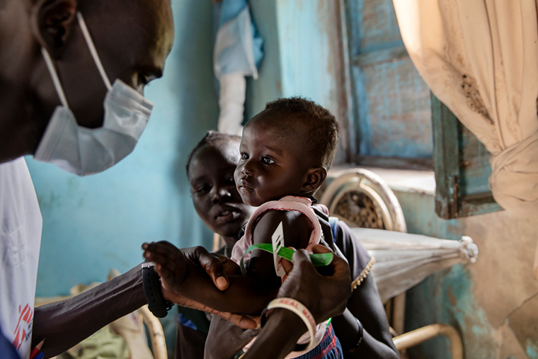
M 185 164 L 216 127 L 211 1 L 172 1 L 176 38 L 164 78 L 147 86 L 155 103 L 135 151 L 85 178 L 28 158 L 43 236 L 38 296 L 67 295 L 77 283 L 106 279 L 142 261 L 144 241 L 210 245 L 212 234 L 190 202 Z

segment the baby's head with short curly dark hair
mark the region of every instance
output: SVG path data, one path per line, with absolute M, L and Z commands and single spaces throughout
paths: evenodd
M 249 120 L 235 171 L 244 203 L 311 196 L 325 181 L 338 144 L 338 122 L 304 98 L 280 98 Z

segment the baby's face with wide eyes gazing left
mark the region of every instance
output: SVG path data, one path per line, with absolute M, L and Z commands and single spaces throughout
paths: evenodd
M 307 161 L 300 148 L 292 136 L 283 136 L 266 123 L 247 125 L 234 174 L 243 202 L 257 207 L 285 195 L 302 195 Z

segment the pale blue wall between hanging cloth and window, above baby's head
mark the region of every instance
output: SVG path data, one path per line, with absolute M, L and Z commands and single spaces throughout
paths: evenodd
M 260 77 L 249 81 L 247 116 L 277 97 L 304 96 L 337 117 L 341 57 L 336 1 L 249 1 L 264 39 Z

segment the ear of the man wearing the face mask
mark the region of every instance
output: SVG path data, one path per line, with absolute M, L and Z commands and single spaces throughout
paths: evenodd
M 30 27 L 42 47 L 57 59 L 69 38 L 77 0 L 37 0 L 30 13 Z

